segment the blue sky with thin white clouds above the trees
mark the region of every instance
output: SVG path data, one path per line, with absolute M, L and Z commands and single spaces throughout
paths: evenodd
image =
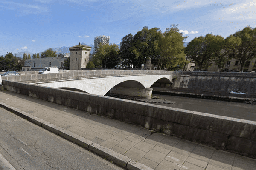
M 178 24 L 186 42 L 256 27 L 256 0 L 0 0 L 0 55 L 94 43 L 119 44 L 144 26 Z

